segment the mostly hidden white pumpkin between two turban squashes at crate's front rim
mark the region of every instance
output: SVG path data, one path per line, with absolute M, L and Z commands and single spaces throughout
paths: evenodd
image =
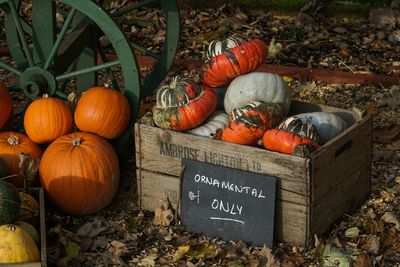
M 228 121 L 228 114 L 223 111 L 215 111 L 203 125 L 188 131 L 188 133 L 211 137 L 218 129 L 224 129 L 228 125 Z

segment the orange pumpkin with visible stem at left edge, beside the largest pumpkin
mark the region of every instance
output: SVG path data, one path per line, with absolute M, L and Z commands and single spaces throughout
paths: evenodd
M 17 187 L 24 186 L 24 179 L 19 174 L 20 153 L 29 154 L 32 159 L 42 156 L 39 146 L 26 135 L 17 132 L 0 133 L 0 158 L 6 162 L 9 174 L 17 175 L 8 180 Z

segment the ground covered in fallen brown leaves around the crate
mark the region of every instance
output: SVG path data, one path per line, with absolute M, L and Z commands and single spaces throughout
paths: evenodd
M 264 10 L 244 12 L 229 5 L 212 11 L 183 7 L 177 57 L 203 59 L 211 40 L 239 33 L 270 44 L 270 64 L 399 75 L 400 11 L 373 12 L 369 18 L 335 17 L 317 22 Z M 130 38 L 157 50 L 158 40 L 162 43 L 165 34 L 158 23 L 159 14 L 148 10 L 144 15 L 147 23 L 138 20 L 142 23 L 123 27 Z M 170 76 L 177 72 L 171 71 Z M 197 72 L 187 75 L 195 77 Z M 142 211 L 137 205 L 132 156 L 123 162 L 119 194 L 98 214 L 66 216 L 47 203 L 49 265 L 400 266 L 400 85 L 287 81 L 294 99 L 357 107 L 374 116 L 371 195 L 326 235 L 316 236 L 314 247 L 276 243 L 268 248 L 226 242 L 185 231 L 168 206 L 160 206 L 156 213 Z M 150 97 L 142 109 L 152 103 Z

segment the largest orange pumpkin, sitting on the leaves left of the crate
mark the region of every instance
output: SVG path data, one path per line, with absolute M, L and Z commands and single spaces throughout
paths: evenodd
M 71 215 L 93 214 L 113 199 L 119 163 L 113 147 L 92 133 L 61 136 L 45 150 L 40 181 L 50 201 Z

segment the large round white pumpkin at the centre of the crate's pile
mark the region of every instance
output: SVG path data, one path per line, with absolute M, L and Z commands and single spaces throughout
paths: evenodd
M 230 114 L 251 101 L 280 104 L 284 115 L 290 108 L 290 90 L 281 76 L 266 72 L 251 72 L 236 77 L 226 90 L 225 112 Z

